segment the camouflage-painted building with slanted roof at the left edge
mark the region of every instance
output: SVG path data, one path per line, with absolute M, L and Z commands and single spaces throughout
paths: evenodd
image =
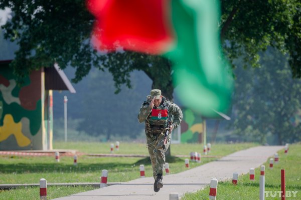
M 51 150 L 53 90 L 76 91 L 57 63 L 33 71 L 19 86 L 11 61 L 0 61 L 0 150 Z

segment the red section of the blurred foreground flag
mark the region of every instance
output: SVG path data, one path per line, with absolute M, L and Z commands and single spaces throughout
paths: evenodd
M 169 0 L 87 0 L 96 17 L 93 44 L 99 50 L 161 54 L 172 42 Z

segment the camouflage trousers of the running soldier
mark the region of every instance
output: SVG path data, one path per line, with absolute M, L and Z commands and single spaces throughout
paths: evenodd
M 155 180 L 157 179 L 157 173 L 163 174 L 165 167 L 165 152 L 170 145 L 171 134 L 168 134 L 165 148 L 162 148 L 164 139 L 165 137 L 163 133 L 161 135 L 157 134 L 157 136 L 150 132 L 146 133 L 146 143 L 150 160 L 152 161 L 153 176 Z

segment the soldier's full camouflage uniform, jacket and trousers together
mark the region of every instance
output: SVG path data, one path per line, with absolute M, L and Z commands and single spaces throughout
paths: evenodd
M 167 100 L 164 96 L 162 97 L 161 104 L 158 107 L 154 105 L 153 109 L 149 106 L 151 100 L 152 97 L 148 95 L 146 101 L 142 103 L 138 114 L 138 120 L 140 123 L 145 121 L 146 143 L 150 160 L 152 160 L 153 176 L 156 180 L 157 174 L 163 174 L 165 152 L 171 141 L 170 132 L 167 137 L 167 144 L 165 145 L 165 148 L 162 148 L 165 139 L 163 131 L 169 126 L 169 118 L 173 118 L 173 130 L 176 129 L 182 120 L 183 114 L 181 108 L 177 104 Z M 161 114 L 164 110 L 167 110 L 167 116 L 164 113 Z M 154 113 L 152 114 L 152 112 L 157 112 L 158 116 L 154 116 Z

